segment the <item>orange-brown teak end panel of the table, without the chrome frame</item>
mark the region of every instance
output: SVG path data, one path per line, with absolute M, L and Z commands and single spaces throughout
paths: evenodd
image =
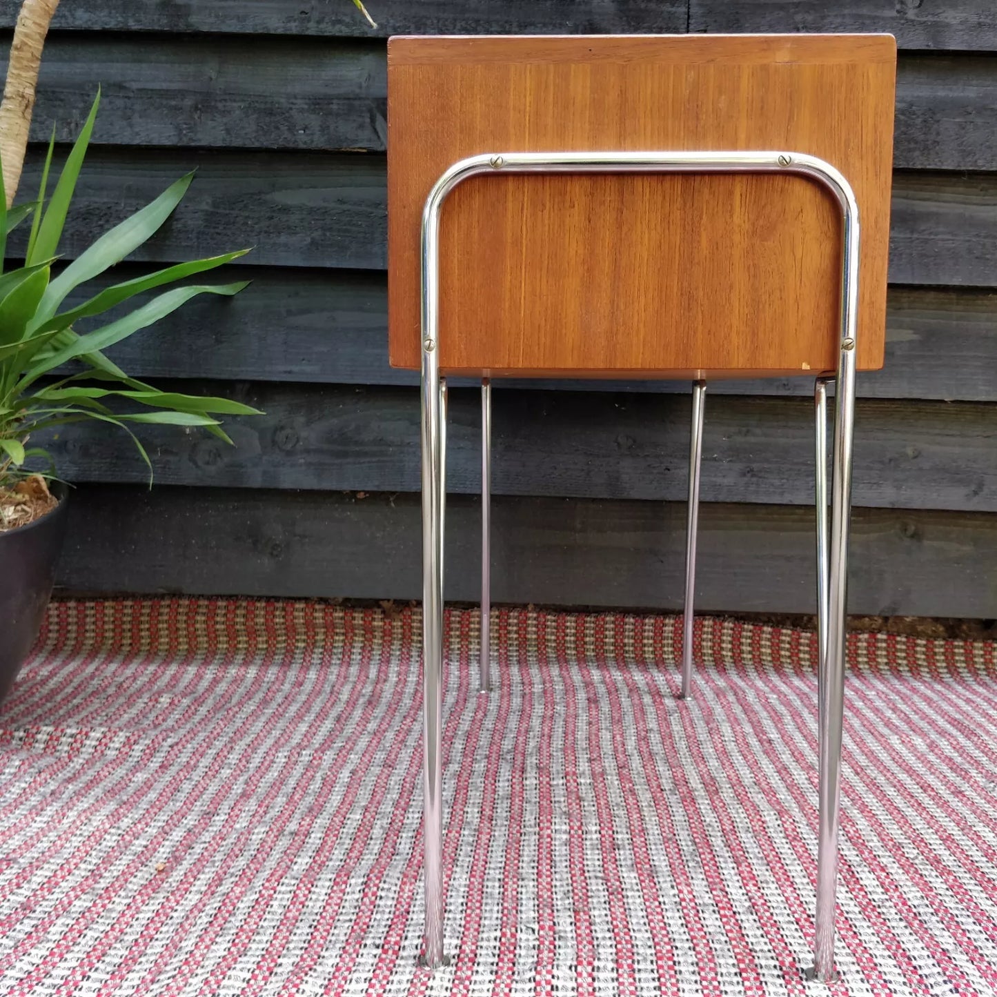
M 889 35 L 393 38 L 391 362 L 420 365 L 420 220 L 490 152 L 773 150 L 848 178 L 858 367 L 882 365 L 896 46 Z M 839 209 L 791 175 L 486 175 L 441 225 L 440 365 L 493 376 L 830 371 Z

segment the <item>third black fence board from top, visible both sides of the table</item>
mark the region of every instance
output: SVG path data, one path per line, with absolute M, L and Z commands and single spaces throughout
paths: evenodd
M 21 198 L 38 188 L 33 150 Z M 332 153 L 235 153 L 97 148 L 88 158 L 61 250 L 97 233 L 197 167 L 183 203 L 138 259 L 177 260 L 255 246 L 254 265 L 382 269 L 385 158 Z M 889 276 L 897 284 L 997 285 L 997 173 L 899 172 L 894 177 Z M 23 251 L 27 226 L 10 239 Z

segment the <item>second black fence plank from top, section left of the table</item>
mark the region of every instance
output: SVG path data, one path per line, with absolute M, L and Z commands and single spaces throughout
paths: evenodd
M 4 53 L 8 46 L 0 38 Z M 55 34 L 42 60 L 33 141 L 48 142 L 54 126 L 57 142 L 73 142 L 98 83 L 99 145 L 380 152 L 386 145 L 381 41 Z

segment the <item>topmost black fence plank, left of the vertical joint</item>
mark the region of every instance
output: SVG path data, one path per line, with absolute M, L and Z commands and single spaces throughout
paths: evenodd
M 0 0 L 12 25 L 16 0 Z M 86 31 L 169 31 L 262 35 L 604 34 L 684 32 L 685 0 L 372 0 L 376 28 L 352 0 L 85 0 L 67 4 L 54 27 Z

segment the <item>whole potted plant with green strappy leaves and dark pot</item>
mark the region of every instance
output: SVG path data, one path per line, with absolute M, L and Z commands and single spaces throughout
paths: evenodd
M 82 420 L 123 430 L 152 476 L 149 455 L 132 426 L 203 427 L 230 443 L 219 417 L 258 414 L 222 398 L 160 391 L 129 377 L 102 352 L 190 298 L 236 294 L 245 282 L 157 289 L 221 266 L 247 250 L 174 264 L 86 293 L 88 281 L 160 228 L 190 184 L 192 174 L 188 174 L 59 267 L 59 239 L 99 105 L 100 95 L 51 196 L 46 196 L 46 188 L 54 139 L 36 201 L 8 209 L 0 178 L 0 697 L 13 683 L 37 635 L 65 530 L 68 491 L 55 477 L 49 455 L 37 446 L 38 436 Z M 8 234 L 29 219 L 23 265 L 3 270 Z M 157 293 L 148 296 L 152 291 Z M 139 294 L 144 295 L 139 307 L 130 311 L 121 307 Z M 112 309 L 112 316 L 101 318 Z

